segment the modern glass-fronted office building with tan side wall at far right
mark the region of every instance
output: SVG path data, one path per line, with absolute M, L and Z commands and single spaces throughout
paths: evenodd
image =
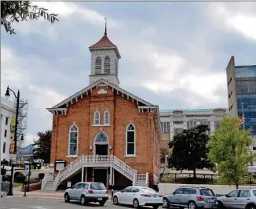
M 252 128 L 256 150 L 256 65 L 236 66 L 234 56 L 226 68 L 229 97 L 229 112 L 232 117 L 242 117 L 244 128 Z

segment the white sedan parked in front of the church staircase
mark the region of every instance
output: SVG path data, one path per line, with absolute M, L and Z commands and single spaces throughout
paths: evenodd
M 152 206 L 157 209 L 163 204 L 163 195 L 145 186 L 129 186 L 114 194 L 113 204 L 128 204 L 135 208 Z

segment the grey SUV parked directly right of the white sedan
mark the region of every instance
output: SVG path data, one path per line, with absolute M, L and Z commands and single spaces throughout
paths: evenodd
M 214 192 L 209 188 L 181 187 L 174 193 L 163 196 L 163 207 L 216 208 L 218 202 Z

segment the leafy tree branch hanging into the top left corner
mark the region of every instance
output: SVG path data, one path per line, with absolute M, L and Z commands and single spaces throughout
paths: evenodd
M 47 9 L 31 5 L 30 1 L 1 1 L 1 24 L 7 33 L 16 34 L 11 26 L 14 21 L 38 20 L 38 17 L 42 16 L 50 23 L 54 23 L 57 20 L 57 14 L 48 14 L 46 11 Z

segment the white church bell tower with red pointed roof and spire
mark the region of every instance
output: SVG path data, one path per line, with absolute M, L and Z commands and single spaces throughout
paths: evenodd
M 105 19 L 106 20 L 106 19 Z M 119 86 L 119 49 L 108 39 L 107 22 L 104 36 L 96 44 L 89 47 L 91 52 L 90 84 L 103 78 Z

